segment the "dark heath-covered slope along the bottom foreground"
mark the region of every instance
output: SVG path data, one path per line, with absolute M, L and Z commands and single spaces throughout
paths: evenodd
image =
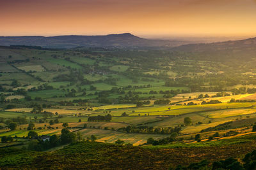
M 204 159 L 214 162 L 229 157 L 241 158 L 255 149 L 255 141 L 168 149 L 81 142 L 54 152 L 3 148 L 0 150 L 0 166 L 2 169 L 168 169 Z

